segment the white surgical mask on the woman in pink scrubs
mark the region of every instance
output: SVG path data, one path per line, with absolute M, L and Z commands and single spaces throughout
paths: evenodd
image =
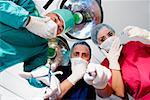
M 110 50 L 111 45 L 113 43 L 113 41 L 115 40 L 115 38 L 118 38 L 117 36 L 111 36 L 108 39 L 106 39 L 101 45 L 99 45 L 99 47 L 101 49 L 106 50 L 107 52 Z

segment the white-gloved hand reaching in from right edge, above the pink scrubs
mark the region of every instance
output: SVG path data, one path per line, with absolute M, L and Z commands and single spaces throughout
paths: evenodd
M 136 26 L 127 26 L 123 32 L 127 33 L 129 37 L 142 37 L 150 40 L 150 32 Z

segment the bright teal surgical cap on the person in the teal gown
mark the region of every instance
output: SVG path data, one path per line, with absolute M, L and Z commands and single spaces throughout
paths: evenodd
M 53 10 L 52 13 L 55 13 L 62 18 L 64 22 L 64 30 L 62 33 L 66 33 L 74 27 L 75 19 L 71 11 L 67 9 L 56 9 Z

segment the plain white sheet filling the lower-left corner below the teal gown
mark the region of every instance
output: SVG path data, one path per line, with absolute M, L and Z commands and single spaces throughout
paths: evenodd
M 42 100 L 45 88 L 35 88 L 21 78 L 18 73 L 23 71 L 22 69 L 23 63 L 20 63 L 0 73 L 0 88 L 3 88 L 0 89 L 0 100 L 9 100 L 8 94 L 11 94 L 14 100 Z

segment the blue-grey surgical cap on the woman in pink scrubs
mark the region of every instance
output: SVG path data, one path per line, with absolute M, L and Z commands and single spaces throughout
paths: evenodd
M 95 43 L 95 44 L 98 44 L 98 41 L 97 41 L 97 36 L 98 36 L 98 33 L 103 29 L 103 28 L 107 28 L 109 30 L 111 30 L 112 32 L 115 33 L 115 30 L 107 25 L 107 24 L 98 24 L 96 25 L 96 27 L 94 27 L 92 30 L 91 30 L 91 39 L 92 41 Z

